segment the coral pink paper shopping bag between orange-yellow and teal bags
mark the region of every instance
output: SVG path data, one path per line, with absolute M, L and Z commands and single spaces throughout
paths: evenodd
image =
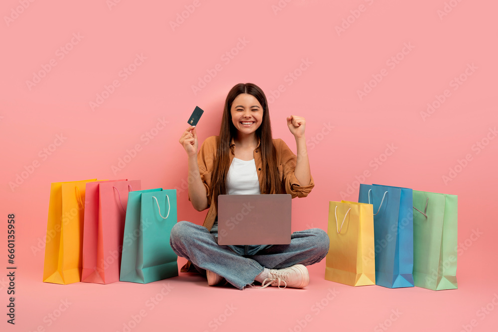
M 109 284 L 120 280 L 128 191 L 140 189 L 140 180 L 86 184 L 81 281 Z

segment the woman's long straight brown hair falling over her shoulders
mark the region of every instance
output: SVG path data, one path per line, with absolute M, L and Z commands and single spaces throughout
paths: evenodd
M 237 137 L 237 128 L 232 122 L 232 103 L 240 94 L 249 94 L 257 99 L 263 108 L 261 124 L 256 129 L 256 136 L 261 140 L 259 150 L 263 165 L 263 191 L 261 194 L 280 194 L 282 182 L 278 177 L 276 164 L 276 151 L 271 136 L 270 116 L 268 114 L 268 103 L 263 91 L 252 83 L 237 84 L 228 93 L 221 121 L 218 151 L 214 162 L 213 177 L 211 181 L 211 192 L 214 195 L 215 207 L 218 208 L 218 195 L 227 193 L 227 174 L 230 168 L 230 142 Z M 213 202 L 212 202 L 213 203 Z

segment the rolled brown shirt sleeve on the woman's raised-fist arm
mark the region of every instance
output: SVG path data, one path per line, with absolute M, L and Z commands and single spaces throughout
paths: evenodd
M 297 156 L 292 152 L 291 149 L 285 144 L 283 140 L 280 139 L 280 156 L 281 156 L 281 166 L 282 166 L 282 182 L 285 186 L 285 192 L 290 194 L 292 198 L 295 197 L 306 197 L 311 192 L 315 186 L 313 181 L 313 176 L 311 176 L 310 183 L 306 186 L 302 186 L 297 180 L 294 170 L 296 169 Z

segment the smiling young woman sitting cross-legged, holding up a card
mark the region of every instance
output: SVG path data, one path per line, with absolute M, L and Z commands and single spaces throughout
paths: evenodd
M 321 261 L 329 237 L 319 228 L 296 231 L 285 245 L 218 245 L 220 194 L 290 194 L 306 197 L 314 187 L 304 136 L 303 117 L 287 117 L 297 157 L 281 139 L 272 139 L 266 96 L 254 84 L 237 84 L 225 101 L 220 135 L 206 138 L 197 154 L 194 126 L 180 137 L 188 156 L 188 196 L 197 211 L 208 209 L 203 226 L 179 221 L 170 244 L 188 259 L 182 272 L 206 274 L 208 285 L 224 281 L 239 289 L 254 281 L 279 288 L 309 283 L 305 265 Z M 271 218 L 271 216 L 268 216 Z

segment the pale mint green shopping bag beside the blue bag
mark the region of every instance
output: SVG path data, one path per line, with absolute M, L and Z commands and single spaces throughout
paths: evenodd
M 439 291 L 457 287 L 458 197 L 413 191 L 413 280 Z

